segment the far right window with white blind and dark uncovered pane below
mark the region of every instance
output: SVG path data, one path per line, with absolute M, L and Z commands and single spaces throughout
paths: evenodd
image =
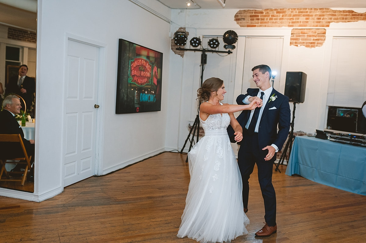
M 335 37 L 328 85 L 327 128 L 359 132 L 366 100 L 366 38 Z

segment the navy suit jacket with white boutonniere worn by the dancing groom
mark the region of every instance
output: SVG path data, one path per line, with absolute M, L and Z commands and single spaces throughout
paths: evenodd
M 238 105 L 246 105 L 243 103 L 243 99 L 246 98 L 246 96 L 248 95 L 257 96 L 258 92 L 259 88 L 248 88 L 247 94 L 239 95 L 238 98 L 236 98 L 236 103 L 238 103 Z M 278 149 L 281 150 L 283 144 L 287 139 L 288 132 L 290 131 L 291 112 L 290 105 L 288 103 L 288 97 L 276 91 L 275 89 L 272 90 L 270 96 L 272 96 L 273 94 L 277 96 L 277 98 L 273 101 L 268 99 L 266 104 L 263 104 L 264 110 L 258 128 L 258 143 L 259 148 L 264 148 L 268 145 L 275 144 Z M 244 130 L 245 125 L 249 120 L 250 112 L 251 110 L 243 110 L 238 118 L 236 118 L 243 128 L 243 139 L 245 139 Z M 279 129 L 278 132 L 277 125 Z M 228 126 L 227 130 L 231 142 L 235 143 L 234 130 L 230 125 Z M 238 144 L 240 145 L 240 143 Z

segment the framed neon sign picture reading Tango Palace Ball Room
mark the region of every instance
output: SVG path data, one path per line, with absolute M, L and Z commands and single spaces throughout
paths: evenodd
M 160 111 L 163 53 L 119 39 L 116 114 Z

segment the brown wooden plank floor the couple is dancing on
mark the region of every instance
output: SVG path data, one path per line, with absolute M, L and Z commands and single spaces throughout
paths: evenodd
M 177 238 L 188 190 L 186 155 L 162 153 L 91 177 L 43 202 L 0 197 L 0 242 L 194 243 Z M 249 234 L 242 242 L 365 242 L 366 196 L 273 171 L 277 233 L 256 238 L 264 206 L 257 170 L 250 179 Z

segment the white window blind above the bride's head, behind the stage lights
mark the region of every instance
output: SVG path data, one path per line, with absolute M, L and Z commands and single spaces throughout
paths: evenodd
M 214 37 L 204 36 L 202 38 L 203 48 L 208 48 L 209 39 Z M 219 38 L 219 48 L 216 50 L 227 51 L 223 48 L 224 41 Z M 238 46 L 238 42 L 234 44 Z M 227 93 L 224 96 L 222 103 L 233 104 L 234 102 L 234 84 L 235 84 L 235 69 L 236 69 L 236 49 L 232 50 L 232 54 L 227 53 L 207 53 L 207 64 L 203 71 L 203 81 L 210 77 L 218 77 L 224 80 L 225 90 Z M 235 102 L 236 104 L 236 102 Z

